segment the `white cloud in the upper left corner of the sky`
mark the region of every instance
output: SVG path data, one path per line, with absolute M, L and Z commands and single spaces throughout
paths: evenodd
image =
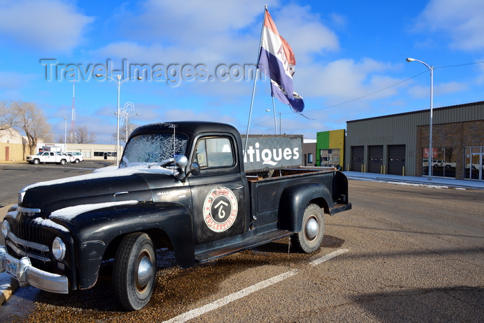
M 93 20 L 64 1 L 0 1 L 0 35 L 24 48 L 68 52 Z

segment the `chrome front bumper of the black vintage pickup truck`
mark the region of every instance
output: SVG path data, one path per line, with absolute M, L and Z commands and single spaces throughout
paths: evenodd
M 28 257 L 17 259 L 8 255 L 6 246 L 0 246 L 0 273 L 4 271 L 17 279 L 21 287 L 32 285 L 41 290 L 60 294 L 67 294 L 69 291 L 66 276 L 35 268 Z

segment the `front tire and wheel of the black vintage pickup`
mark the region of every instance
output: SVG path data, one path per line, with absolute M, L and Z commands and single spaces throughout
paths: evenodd
M 148 234 L 136 232 L 124 237 L 114 259 L 113 287 L 126 311 L 138 311 L 149 302 L 155 274 L 156 255 Z

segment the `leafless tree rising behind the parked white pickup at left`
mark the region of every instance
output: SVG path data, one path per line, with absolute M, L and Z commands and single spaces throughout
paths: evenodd
M 50 141 L 50 124 L 35 103 L 14 101 L 10 104 L 10 111 L 16 116 L 14 127 L 24 130 L 26 134 L 30 154 L 35 154 L 39 139 Z

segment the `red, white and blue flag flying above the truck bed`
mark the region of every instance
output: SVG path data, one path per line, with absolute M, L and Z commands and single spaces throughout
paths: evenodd
M 292 89 L 292 75 L 296 59 L 286 39 L 277 31 L 276 25 L 266 10 L 262 30 L 261 52 L 257 67 L 270 77 L 271 95 L 297 112 L 304 109 L 301 96 Z

